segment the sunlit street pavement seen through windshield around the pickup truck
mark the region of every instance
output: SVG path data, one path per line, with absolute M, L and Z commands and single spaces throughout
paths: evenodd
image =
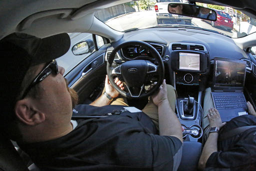
M 134 23 L 134 17 L 136 18 L 135 23 Z M 152 27 L 157 25 L 156 14 L 154 10 L 145 10 L 145 11 L 127 13 L 124 15 L 117 16 L 115 18 L 111 18 L 105 23 L 118 31 L 124 31 L 130 28 L 146 28 L 146 27 Z M 201 21 L 201 19 L 198 19 L 198 18 L 192 19 L 192 25 L 206 28 L 206 29 L 212 29 L 212 30 L 224 33 L 230 37 L 236 37 L 235 30 L 227 31 L 224 28 L 212 27 L 210 23 Z

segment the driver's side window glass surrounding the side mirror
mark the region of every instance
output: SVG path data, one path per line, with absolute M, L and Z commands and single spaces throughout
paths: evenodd
M 68 33 L 70 37 L 70 48 L 69 50 L 61 57 L 57 58 L 57 63 L 58 65 L 64 67 L 65 72 L 64 74 L 68 73 L 72 68 L 74 68 L 78 63 L 80 63 L 82 60 L 87 58 L 89 55 L 91 55 L 95 51 L 93 38 L 91 33 L 80 33 L 80 32 L 75 32 L 75 33 Z M 79 54 L 75 55 L 72 52 L 72 47 L 76 45 L 77 43 L 80 43 L 86 41 L 87 44 L 89 44 L 89 50 L 88 52 L 84 54 Z M 96 44 L 99 47 L 101 47 L 104 42 L 103 38 L 101 36 L 96 36 Z M 90 42 L 90 43 L 89 43 Z

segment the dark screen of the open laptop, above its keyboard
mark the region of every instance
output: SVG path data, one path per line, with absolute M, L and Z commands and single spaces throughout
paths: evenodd
M 244 86 L 246 62 L 214 58 L 213 86 Z

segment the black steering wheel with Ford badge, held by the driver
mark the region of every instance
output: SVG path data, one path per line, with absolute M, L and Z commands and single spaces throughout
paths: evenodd
M 156 64 L 149 60 L 132 59 L 121 63 L 117 67 L 112 67 L 115 53 L 123 47 L 135 44 L 147 48 L 155 58 L 156 62 L 154 63 Z M 163 80 L 164 67 L 160 54 L 153 46 L 143 41 L 134 40 L 121 43 L 113 49 L 106 63 L 106 72 L 110 83 L 121 95 L 127 98 L 141 98 L 151 95 L 159 88 Z M 125 82 L 128 92 L 121 90 L 116 85 L 114 82 L 116 76 Z M 154 86 L 146 90 L 145 85 L 153 82 Z

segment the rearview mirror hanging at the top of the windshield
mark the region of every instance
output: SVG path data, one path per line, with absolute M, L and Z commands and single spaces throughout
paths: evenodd
M 179 15 L 191 16 L 195 18 L 207 19 L 211 21 L 216 20 L 215 10 L 194 4 L 175 2 L 169 3 L 168 12 Z

